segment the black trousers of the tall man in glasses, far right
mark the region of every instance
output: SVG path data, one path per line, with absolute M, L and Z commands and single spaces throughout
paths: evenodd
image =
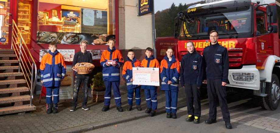
M 230 121 L 229 108 L 226 101 L 226 87 L 222 86 L 222 79 L 207 78 L 207 93 L 209 100 L 209 118 L 216 120 L 217 118 L 217 103 L 216 93 L 219 98 L 219 104 L 222 111 L 224 121 Z

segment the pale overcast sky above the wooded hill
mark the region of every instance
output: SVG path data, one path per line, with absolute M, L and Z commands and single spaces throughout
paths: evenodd
M 174 3 L 176 6 L 179 5 L 179 3 L 182 3 L 183 5 L 189 4 L 189 3 L 194 3 L 194 2 L 199 2 L 201 0 L 154 0 L 155 2 L 155 13 L 157 11 L 162 11 L 164 9 L 170 8 L 172 3 Z

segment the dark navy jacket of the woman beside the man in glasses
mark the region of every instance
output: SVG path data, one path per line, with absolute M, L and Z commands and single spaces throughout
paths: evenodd
M 203 80 L 203 64 L 200 54 L 193 52 L 187 53 L 181 60 L 181 85 L 196 84 L 201 87 Z

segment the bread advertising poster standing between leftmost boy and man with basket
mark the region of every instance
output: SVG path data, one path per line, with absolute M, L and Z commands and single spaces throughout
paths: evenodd
M 72 99 L 73 97 L 73 70 L 66 66 L 66 74 L 60 83 L 59 100 Z

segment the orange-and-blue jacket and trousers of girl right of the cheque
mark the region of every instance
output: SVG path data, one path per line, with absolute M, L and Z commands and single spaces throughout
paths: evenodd
M 165 90 L 165 110 L 166 113 L 177 112 L 177 101 L 180 78 L 180 62 L 172 56 L 169 60 L 167 56 L 160 63 L 161 90 Z M 171 81 L 172 84 L 167 84 Z

